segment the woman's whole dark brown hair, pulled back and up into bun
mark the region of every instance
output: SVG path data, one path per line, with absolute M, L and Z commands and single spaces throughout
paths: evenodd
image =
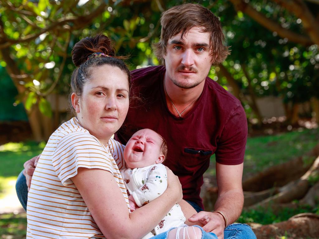
M 109 57 L 89 57 L 93 53 L 104 53 Z M 72 50 L 72 61 L 77 68 L 73 71 L 71 76 L 70 95 L 74 92 L 78 97 L 81 97 L 83 93 L 83 86 L 88 80 L 90 80 L 93 67 L 99 67 L 105 64 L 118 67 L 125 72 L 130 89 L 130 71 L 121 59 L 126 59 L 126 57 L 115 56 L 115 49 L 112 47 L 110 39 L 105 35 L 99 34 L 95 37 L 86 37 L 77 42 Z M 74 110 L 73 113 L 75 114 Z

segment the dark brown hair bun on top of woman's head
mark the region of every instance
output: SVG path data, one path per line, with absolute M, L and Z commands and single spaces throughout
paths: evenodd
M 96 52 L 103 52 L 115 56 L 115 49 L 111 46 L 110 39 L 102 34 L 95 37 L 86 37 L 77 42 L 72 50 L 72 61 L 76 67 L 87 60 L 87 57 Z

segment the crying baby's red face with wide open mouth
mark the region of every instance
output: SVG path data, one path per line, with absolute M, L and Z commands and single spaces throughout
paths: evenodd
M 124 149 L 124 159 L 127 166 L 143 168 L 155 163 L 162 163 L 164 155 L 161 154 L 162 139 L 151 129 L 137 131 L 127 142 Z

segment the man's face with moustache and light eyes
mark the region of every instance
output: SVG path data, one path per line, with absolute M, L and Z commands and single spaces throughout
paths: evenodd
M 211 69 L 210 33 L 192 27 L 167 41 L 164 55 L 166 77 L 180 88 L 193 88 L 204 82 Z

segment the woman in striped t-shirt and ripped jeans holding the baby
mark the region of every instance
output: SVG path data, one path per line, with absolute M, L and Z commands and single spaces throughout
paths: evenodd
M 40 156 L 28 194 L 27 237 L 141 238 L 182 199 L 181 185 L 168 170 L 167 190 L 130 213 L 119 172 L 123 146 L 111 139 L 129 108 L 130 72 L 104 35 L 80 40 L 72 60 L 77 69 L 70 98 L 76 117 L 51 135 Z M 191 212 L 186 208 L 185 216 Z M 204 233 L 190 228 L 154 238 Z

